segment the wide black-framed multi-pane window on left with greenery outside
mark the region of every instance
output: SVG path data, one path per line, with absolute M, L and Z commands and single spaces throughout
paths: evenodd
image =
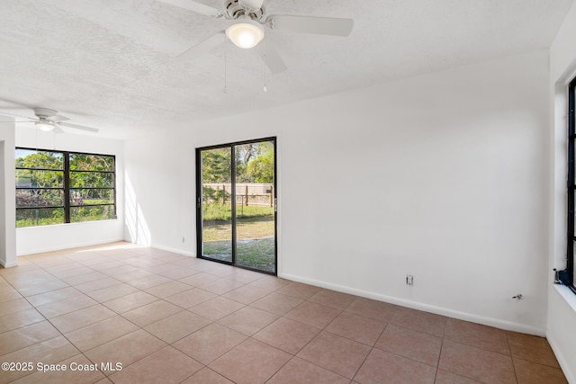
M 16 228 L 116 219 L 115 157 L 16 148 Z

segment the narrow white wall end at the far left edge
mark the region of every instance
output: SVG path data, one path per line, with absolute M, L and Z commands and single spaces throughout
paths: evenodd
M 0 122 L 0 264 L 4 267 L 16 265 L 15 200 L 14 122 Z

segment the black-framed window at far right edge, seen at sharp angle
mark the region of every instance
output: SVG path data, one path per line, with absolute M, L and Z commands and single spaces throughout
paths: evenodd
M 568 94 L 568 248 L 567 248 L 567 267 L 565 279 L 561 279 L 576 293 L 576 283 L 574 277 L 576 276 L 574 265 L 574 246 L 576 246 L 576 232 L 574 231 L 574 203 L 576 193 L 576 178 L 574 169 L 575 152 L 574 147 L 576 144 L 576 117 L 574 115 L 574 102 L 576 99 L 576 78 L 572 80 L 569 85 Z

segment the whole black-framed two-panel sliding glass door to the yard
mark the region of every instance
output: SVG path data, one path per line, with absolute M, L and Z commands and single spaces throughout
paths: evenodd
M 276 274 L 275 138 L 196 149 L 198 256 Z

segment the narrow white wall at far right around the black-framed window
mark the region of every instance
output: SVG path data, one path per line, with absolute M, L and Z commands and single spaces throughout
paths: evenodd
M 567 84 L 576 76 L 576 4 L 564 19 L 550 48 L 550 243 L 549 269 L 566 267 Z M 550 275 L 552 276 L 552 275 Z M 576 296 L 555 286 L 550 277 L 546 336 L 569 382 L 576 383 Z

